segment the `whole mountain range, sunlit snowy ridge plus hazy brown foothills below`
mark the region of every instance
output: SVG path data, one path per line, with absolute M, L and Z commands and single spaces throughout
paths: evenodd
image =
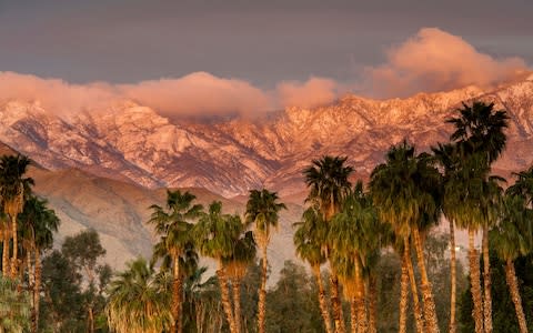
M 251 189 L 278 191 L 291 210 L 271 246 L 276 263 L 294 256 L 291 223 L 302 211 L 302 170 L 323 154 L 349 158 L 368 179 L 391 144 L 403 139 L 428 150 L 452 130 L 445 119 L 462 102 L 494 102 L 510 115 L 509 142 L 494 171 L 510 176 L 533 162 L 533 77 L 496 89 L 466 87 L 408 99 L 345 95 L 315 109 L 286 108 L 257 118 L 169 119 L 133 101 L 57 113 L 39 101 L 0 102 L 0 152 L 36 162 L 36 191 L 60 215 L 61 236 L 94 228 L 108 260 L 149 255 L 154 240 L 143 222 L 164 188 L 191 189 L 203 203 L 223 200 L 242 212 Z M 61 239 L 60 236 L 60 239 Z

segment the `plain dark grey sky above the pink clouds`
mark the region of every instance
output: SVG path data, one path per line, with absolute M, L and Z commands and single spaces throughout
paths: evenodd
M 533 64 L 533 1 L 0 0 L 0 71 L 130 83 L 346 81 L 423 27 Z

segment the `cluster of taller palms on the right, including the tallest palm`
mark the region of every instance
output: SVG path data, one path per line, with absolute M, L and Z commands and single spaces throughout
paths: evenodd
M 456 225 L 469 232 L 475 332 L 492 332 L 489 248 L 494 249 L 507 263 L 506 279 L 520 330 L 527 332 L 513 260 L 533 251 L 533 167 L 520 172 L 515 184 L 505 193 L 501 186 L 504 180 L 491 174 L 492 164 L 505 148 L 503 131 L 507 127 L 505 111 L 495 111 L 493 107 L 482 102 L 463 104 L 457 110 L 459 115 L 447 120 L 455 128 L 450 142 L 439 143 L 432 148 L 432 153 L 416 153 L 415 148 L 406 141 L 393 145 L 384 163 L 372 171 L 368 192 L 363 191 L 361 182 L 351 186 L 349 178 L 353 169 L 345 165 L 346 158 L 323 157 L 304 171 L 310 189 L 306 199 L 309 208 L 303 221 L 296 223 L 294 242 L 298 254 L 310 263 L 316 276 L 326 332 L 346 330 L 339 281 L 344 296 L 351 303 L 351 331 L 375 332 L 372 271 L 375 259 L 384 248 L 393 249 L 402 259 L 400 332 L 406 331 L 409 284 L 416 331 L 439 332 L 423 241 L 425 233 L 441 216 L 450 221 L 451 234 L 449 331 L 455 332 L 457 325 Z M 477 231 L 482 232 L 483 239 L 483 289 L 480 254 L 474 244 Z M 422 299 L 418 293 L 411 249 L 415 253 Z M 326 299 L 321 281 L 320 268 L 325 262 L 331 272 L 331 300 Z M 369 295 L 365 295 L 366 291 Z

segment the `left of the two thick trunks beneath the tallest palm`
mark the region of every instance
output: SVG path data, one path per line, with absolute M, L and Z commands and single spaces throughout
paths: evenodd
M 481 282 L 480 282 L 480 256 L 474 246 L 473 229 L 469 229 L 469 262 L 470 262 L 470 283 L 472 292 L 472 302 L 474 309 L 472 310 L 472 316 L 475 323 L 475 333 L 484 333 L 483 331 L 483 300 L 481 296 Z

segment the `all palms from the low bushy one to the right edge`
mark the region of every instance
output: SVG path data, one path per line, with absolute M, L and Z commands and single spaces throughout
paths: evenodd
M 475 331 L 492 332 L 491 248 L 506 263 L 520 330 L 527 332 L 513 261 L 533 251 L 533 168 L 520 172 L 515 184 L 503 191 L 503 179 L 492 175 L 491 169 L 505 148 L 505 112 L 482 102 L 463 104 L 457 111 L 459 115 L 449 120 L 455 128 L 449 142 L 439 143 L 431 153 L 418 153 L 406 141 L 393 145 L 384 162 L 372 171 L 368 189 L 361 181 L 352 186 L 353 168 L 346 165 L 348 158 L 325 155 L 303 171 L 309 195 L 302 220 L 294 223 L 294 244 L 316 279 L 328 333 L 376 332 L 375 266 L 383 251 L 394 251 L 401 258 L 399 331 L 406 332 L 410 291 L 416 332 L 440 331 L 423 249 L 426 233 L 443 216 L 450 222 L 451 235 L 449 331 L 457 329 L 454 241 L 457 226 L 469 232 Z M 255 260 L 257 246 L 262 259 L 258 331 L 264 332 L 266 249 L 285 205 L 274 192 L 253 190 L 241 218 L 223 213 L 220 202 L 211 203 L 204 211 L 194 200 L 189 192 L 168 191 L 165 206 L 150 208 L 149 223 L 160 239 L 150 264 L 132 263 L 130 271 L 112 283 L 108 317 L 117 332 L 182 332 L 183 283 L 198 269 L 199 255 L 217 261 L 229 330 L 242 332 L 241 281 Z M 474 244 L 480 231 L 482 280 L 480 253 Z M 330 271 L 329 292 L 322 281 L 324 264 Z M 137 273 L 133 265 L 139 265 Z M 149 274 L 157 265 L 159 273 Z M 149 297 L 144 307 L 139 303 L 140 285 L 150 289 L 142 293 Z M 130 287 L 137 287 L 139 296 L 130 293 Z M 165 289 L 172 290 L 171 295 L 163 295 Z M 344 322 L 343 299 L 350 303 L 350 329 Z M 140 314 L 141 307 L 145 315 Z

